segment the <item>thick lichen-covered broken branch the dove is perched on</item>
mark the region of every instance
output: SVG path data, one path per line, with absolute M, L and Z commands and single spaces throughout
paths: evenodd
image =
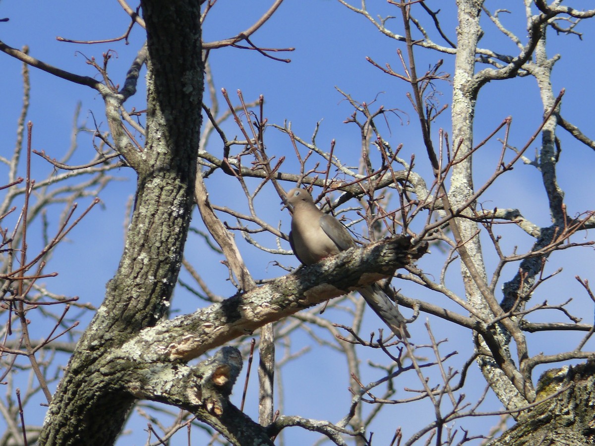
M 146 329 L 126 349 L 149 349 L 171 360 L 190 360 L 234 338 L 249 335 L 265 323 L 391 277 L 394 269 L 418 259 L 427 249 L 423 243 L 412 246 L 409 240 L 405 236 L 381 240 L 299 268 L 249 293 Z

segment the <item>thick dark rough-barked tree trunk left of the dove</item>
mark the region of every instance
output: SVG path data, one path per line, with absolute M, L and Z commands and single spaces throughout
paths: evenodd
M 117 274 L 77 345 L 40 444 L 113 444 L 135 397 L 109 352 L 164 315 L 190 223 L 203 65 L 197 2 L 142 2 L 148 35 L 147 142 Z

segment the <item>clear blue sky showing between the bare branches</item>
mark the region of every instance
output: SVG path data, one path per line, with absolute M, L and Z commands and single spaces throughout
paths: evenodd
M 498 2 L 487 2 L 490 10 L 495 9 L 494 3 Z M 269 4 L 270 2 L 262 0 L 251 2 L 220 0 L 205 22 L 203 39 L 205 41 L 223 39 L 239 30 L 246 29 L 262 12 L 267 10 Z M 369 2 L 369 4 L 374 4 L 374 7 L 377 7 L 380 2 Z M 436 1 L 428 2 L 428 4 L 431 7 L 438 4 L 442 6 L 442 2 Z M 445 15 L 443 24 L 444 30 L 454 40 L 456 20 L 447 15 L 452 14 L 451 11 L 454 8 L 452 2 L 449 2 L 449 5 L 445 4 L 443 7 Z M 397 15 L 398 11 L 383 2 L 378 13 Z M 522 30 L 525 23 L 522 15 L 502 14 L 502 16 L 511 29 Z M 129 20 L 117 2 L 99 2 L 91 9 L 86 2 L 77 1 L 56 3 L 4 0 L 0 2 L 0 17 L 10 18 L 7 23 L 0 23 L 0 30 L 2 30 L 0 39 L 7 45 L 16 48 L 29 45 L 32 56 L 77 74 L 95 76 L 94 69 L 85 63 L 84 56 L 95 56 L 96 59 L 101 59 L 102 52 L 113 49 L 115 53 L 114 58 L 109 62 L 109 73 L 116 83 L 123 81 L 134 54 L 143 42 L 143 33 L 139 27 L 133 29 L 130 45 L 124 45 L 122 42 L 102 45 L 74 45 L 57 42 L 55 39 L 56 36 L 62 36 L 69 39 L 93 40 L 121 35 L 126 30 Z M 400 32 L 400 18 L 392 20 L 392 22 L 389 21 L 389 24 L 394 23 L 394 30 Z M 593 95 L 590 86 L 594 67 L 593 61 L 586 55 L 593 51 L 593 39 L 595 38 L 593 32 L 595 30 L 593 24 L 588 21 L 581 24 L 577 30 L 584 33 L 583 40 L 579 40 L 577 36 L 556 36 L 554 33 L 550 33 L 548 44 L 551 48 L 550 56 L 555 52 L 563 54 L 556 64 L 553 77 L 553 89 L 556 92 L 562 88 L 566 89 L 562 103 L 563 115 L 568 121 L 582 126 L 585 133 L 588 134 L 588 130 L 592 127 L 592 114 L 589 111 Z M 486 31 L 486 36 L 481 40 L 482 46 L 489 46 L 498 52 L 515 51 L 511 43 L 498 33 L 489 28 L 486 28 Z M 521 32 L 519 36 L 524 39 L 525 33 Z M 296 51 L 278 54 L 283 58 L 292 59 L 290 64 L 264 58 L 253 51 L 233 48 L 212 51 L 209 55 L 209 62 L 215 84 L 218 89 L 225 87 L 234 102 L 237 103 L 235 92 L 238 89 L 242 90 L 246 101 L 255 100 L 261 94 L 264 95 L 265 115 L 269 122 L 282 124 L 284 120 L 289 120 L 292 122 L 295 133 L 306 140 L 309 140 L 313 133 L 315 124 L 321 121 L 318 145 L 328 149 L 330 141 L 335 139 L 335 153 L 349 159 L 358 153 L 358 129 L 353 124 L 343 123 L 352 113 L 352 109 L 345 100 L 342 100 L 342 96 L 335 87 L 350 93 L 353 98 L 359 101 L 369 103 L 377 99 L 377 105 L 383 104 L 386 108 L 398 108 L 403 111 L 399 114 L 402 119 L 395 116 L 389 121 L 389 128 L 384 127 L 385 139 L 389 139 L 393 147 L 403 143 L 402 158 L 409 159 L 412 153 L 416 153 L 419 170 L 424 174 L 428 173 L 427 162 L 421 150 L 418 124 L 414 120 L 411 105 L 405 96 L 406 85 L 396 78 L 381 73 L 365 61 L 365 57 L 369 56 L 380 65 L 389 62 L 393 68 L 399 68 L 400 63 L 396 49 L 400 48 L 404 51 L 404 45 L 382 36 L 363 17 L 346 10 L 338 2 L 331 0 L 286 1 L 273 18 L 252 37 L 252 42 L 265 47 L 286 48 L 291 46 L 295 47 Z M 436 55 L 420 50 L 416 57 L 418 58 L 419 71 L 425 71 L 425 67 L 433 65 L 438 58 L 444 58 L 444 71 L 452 72 L 453 56 Z M 0 140 L 0 153 L 2 156 L 8 156 L 14 146 L 15 123 L 22 97 L 20 70 L 20 62 L 6 55 L 0 55 L 0 82 L 3 86 L 2 107 L 0 108 L 0 134 L 3 136 Z M 32 105 L 29 120 L 34 123 L 33 147 L 35 149 L 45 150 L 48 155 L 56 158 L 64 153 L 70 145 L 73 113 L 79 101 L 82 102 L 79 124 L 86 121 L 87 127 L 92 127 L 93 114 L 99 123 L 103 123 L 102 128 L 106 129 L 102 113 L 102 100 L 94 90 L 70 84 L 40 71 L 31 70 L 30 73 Z M 437 83 L 437 88 L 443 92 L 440 102 L 449 103 L 449 84 L 443 81 Z M 143 90 L 140 89 L 137 96 L 131 98 L 126 105 L 128 108 L 131 106 L 144 108 L 144 101 Z M 506 83 L 492 82 L 484 87 L 478 98 L 475 138 L 477 142 L 482 140 L 505 117 L 511 115 L 513 124 L 510 142 L 512 145 L 522 146 L 537 128 L 541 114 L 538 90 L 533 78 L 519 78 L 506 81 Z M 408 120 L 411 122 L 409 123 Z M 439 127 L 450 131 L 449 125 L 449 111 L 446 111 L 434 125 L 434 131 L 437 133 Z M 224 130 L 230 137 L 239 133 L 232 123 L 226 123 Z M 558 135 L 563 145 L 558 175 L 560 185 L 566 191 L 569 213 L 575 215 L 575 213 L 593 209 L 592 194 L 585 193 L 585 191 L 593 190 L 595 186 L 591 174 L 593 151 L 568 137 L 563 130 L 559 130 Z M 437 140 L 436 134 L 434 137 Z M 93 155 L 89 134 L 81 134 L 78 141 L 80 147 L 72 160 L 73 164 L 84 163 Z M 270 153 L 276 156 L 284 155 L 288 159 L 292 157 L 293 148 L 287 136 L 269 128 L 265 141 Z M 533 156 L 534 147 L 537 147 L 537 142 L 528 150 L 527 156 Z M 212 139 L 208 148 L 215 154 L 220 153 L 220 145 L 215 138 Z M 494 140 L 477 154 L 475 160 L 476 184 L 481 184 L 483 178 L 491 175 L 499 153 L 500 145 Z M 290 165 L 289 163 L 288 160 L 286 166 Z M 34 175 L 43 177 L 51 172 L 52 168 L 42 159 L 34 158 L 33 171 Z M 59 277 L 51 279 L 52 290 L 61 294 L 80 296 L 82 301 L 89 301 L 95 305 L 101 303 L 105 282 L 112 277 L 115 268 L 117 268 L 123 247 L 123 221 L 126 203 L 134 193 L 135 186 L 134 176 L 130 170 L 120 169 L 113 174 L 123 178 L 124 181 L 117 181 L 102 191 L 100 198 L 103 209 L 94 209 L 83 223 L 71 233 L 70 241 L 58 247 L 51 266 L 49 266 L 52 271 L 60 272 Z M 242 196 L 230 193 L 230 190 L 237 189 L 228 189 L 227 184 L 225 187 L 218 186 L 220 183 L 217 181 L 220 178 L 221 175 L 219 177 L 214 175 L 213 178 L 207 180 L 207 186 L 211 187 L 212 202 L 230 207 L 237 206 L 241 209 Z M 233 186 L 230 187 L 233 188 Z M 290 189 L 290 187 L 292 185 L 286 185 L 286 189 Z M 263 192 L 262 199 L 257 204 L 263 212 L 262 215 L 270 224 L 277 225 L 281 221 L 282 230 L 287 232 L 289 231 L 289 215 L 287 211 L 281 211 L 278 201 L 274 190 L 270 188 Z M 486 208 L 494 206 L 519 208 L 527 218 L 536 224 L 547 225 L 549 221 L 540 175 L 531 166 L 517 165 L 512 172 L 497 182 L 494 189 L 486 193 L 483 203 Z M 81 202 L 80 207 L 84 208 L 87 204 L 88 202 Z M 55 212 L 60 210 L 55 209 Z M 198 215 L 195 215 L 195 224 L 199 224 Z M 4 225 L 5 222 L 3 222 Z M 524 237 L 519 230 L 506 228 L 505 234 L 503 246 L 509 252 L 517 245 L 519 250 L 527 249 L 530 246 L 531 240 Z M 579 235 L 577 239 L 581 237 L 583 235 Z M 236 238 L 239 238 L 239 235 Z M 213 260 L 211 257 L 205 257 L 202 251 L 203 246 L 198 237 L 190 235 L 188 243 L 187 258 L 195 265 L 195 268 L 204 272 L 205 277 L 211 278 L 211 286 L 214 291 L 222 296 L 233 294 L 234 288 L 226 282 L 227 269 L 218 262 L 218 259 Z M 267 243 L 268 246 L 274 247 L 272 238 L 269 238 Z M 283 247 L 289 249 L 286 243 L 283 243 Z M 279 259 L 279 256 L 262 253 L 246 244 L 242 244 L 241 249 L 243 255 L 250 259 L 248 266 L 256 277 L 282 275 L 283 271 L 272 264 L 275 260 L 297 266 L 297 261 L 292 257 Z M 427 256 L 421 264 L 424 268 L 428 268 L 428 271 L 439 274 L 440 262 L 434 262 L 434 258 L 436 257 Z M 488 266 L 493 264 L 491 258 L 493 257 L 487 259 Z M 543 294 L 540 293 L 537 301 L 548 299 L 552 302 L 559 302 L 566 300 L 567 297 L 574 297 L 573 309 L 578 313 L 588 311 L 588 314 L 591 315 L 592 307 L 585 300 L 584 292 L 578 287 L 573 277 L 581 275 L 581 277 L 589 278 L 589 274 L 592 272 L 590 265 L 593 265 L 593 252 L 583 249 L 558 253 L 550 260 L 550 263 L 552 263 L 552 267 L 549 272 L 553 272 L 559 266 L 565 266 L 565 270 L 559 278 L 553 279 L 547 290 L 541 290 Z M 511 277 L 515 267 L 515 265 L 511 265 L 506 269 L 506 272 L 509 273 L 509 275 L 505 274 L 506 279 Z M 455 269 L 453 272 L 456 272 Z M 456 274 L 453 274 L 451 278 L 453 286 L 460 291 L 460 284 L 456 283 L 456 279 Z M 48 285 L 50 285 L 49 281 Z M 408 285 L 403 286 L 407 287 Z M 436 296 L 425 290 L 417 289 L 415 293 L 419 299 L 434 299 L 434 301 L 437 299 Z M 181 312 L 192 311 L 197 304 L 201 303 L 197 303 L 184 291 L 178 290 L 173 309 L 179 309 Z M 411 330 L 414 338 L 425 340 L 424 321 L 425 317 L 422 317 L 414 323 Z M 446 350 L 459 350 L 462 357 L 464 357 L 464 352 L 468 353 L 467 350 L 471 348 L 468 333 L 453 329 L 452 326 L 440 324 L 435 319 L 431 319 L 431 322 L 436 328 L 438 338 L 448 337 L 451 341 Z M 373 319 L 368 323 L 370 329 L 376 328 Z M 578 338 L 572 335 L 560 335 L 558 339 L 576 342 Z M 457 342 L 457 340 L 461 340 L 461 342 Z M 543 337 L 543 340 L 543 343 L 539 341 L 535 344 L 531 353 L 537 353 L 540 350 L 553 353 L 550 351 L 553 347 L 551 339 L 548 341 L 546 337 Z M 299 341 L 307 342 L 305 339 L 299 339 L 297 342 L 299 343 Z M 299 350 L 301 347 L 300 345 L 292 346 L 292 350 Z M 346 391 L 346 374 L 343 372 L 340 379 L 337 379 L 336 369 L 343 368 L 342 359 L 328 354 L 327 351 L 324 354 L 317 354 L 317 346 L 311 347 L 312 351 L 306 355 L 304 362 L 289 366 L 284 375 L 284 387 L 287 391 L 285 413 L 296 413 L 320 419 L 328 418 L 335 421 L 343 416 L 343 410 L 350 398 Z M 366 359 L 364 355 L 367 353 L 361 353 L 362 360 Z M 380 360 L 379 357 L 377 359 Z M 315 373 L 315 379 L 304 379 L 304 373 Z M 374 376 L 378 378 L 377 373 L 375 375 L 372 371 L 368 378 L 372 380 Z M 478 379 L 478 384 L 475 386 L 478 387 L 476 391 L 483 388 L 484 384 L 480 380 L 478 371 L 474 368 L 472 368 L 470 379 Z M 296 383 L 299 390 L 293 391 L 292 385 Z M 252 401 L 249 404 L 252 404 L 252 409 L 248 409 L 248 412 L 253 416 L 256 408 L 254 399 L 256 375 L 252 376 L 250 384 Z M 236 389 L 236 393 L 240 393 L 239 387 Z M 471 391 L 467 394 L 471 398 Z M 493 398 L 490 403 L 493 403 Z M 498 407 L 498 404 L 491 406 L 492 409 Z M 404 426 L 406 429 L 405 438 L 407 438 L 407 434 L 411 435 L 415 429 L 426 422 L 425 419 L 421 419 L 418 412 L 425 413 L 428 410 L 430 410 L 428 403 L 417 403 L 417 405 L 406 408 L 405 406 L 395 409 L 388 408 L 385 410 L 386 415 L 383 419 L 375 425 L 376 444 L 388 444 L 390 441 L 393 431 L 392 428 L 386 429 L 386 426 Z M 33 413 L 33 410 L 30 409 L 26 415 L 30 417 L 31 423 L 39 423 L 43 412 L 40 410 L 39 413 Z M 491 426 L 494 422 L 496 420 L 481 419 L 475 422 L 475 426 L 481 432 L 482 426 Z M 143 427 L 136 428 L 134 439 L 131 440 L 129 436 L 123 439 L 121 444 L 131 444 L 131 441 L 134 444 L 142 444 L 145 438 L 142 429 Z M 313 441 L 313 438 L 317 438 L 317 436 L 294 428 L 286 436 L 286 444 L 309 443 Z

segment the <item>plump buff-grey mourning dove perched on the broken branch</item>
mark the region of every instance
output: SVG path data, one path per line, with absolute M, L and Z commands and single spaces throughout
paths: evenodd
M 304 265 L 312 265 L 355 246 L 347 228 L 332 215 L 318 209 L 308 191 L 297 187 L 290 190 L 287 204 L 293 212 L 289 243 L 297 259 Z M 358 291 L 399 339 L 402 339 L 402 333 L 409 337 L 405 318 L 380 286 L 368 285 Z

